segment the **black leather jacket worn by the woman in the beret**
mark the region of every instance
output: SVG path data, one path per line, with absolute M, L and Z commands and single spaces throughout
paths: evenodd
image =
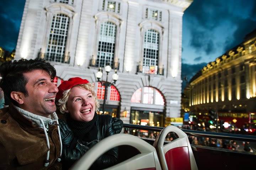
M 98 121 L 96 126 L 98 129 L 97 138 L 91 142 L 85 142 L 81 139 L 73 140 L 70 146 L 63 146 L 62 160 L 63 167 L 68 168 L 76 160 L 78 160 L 85 152 L 87 152 L 92 146 L 101 141 L 103 138 L 114 135 L 115 132 L 112 128 L 114 123 L 111 115 L 98 115 Z M 117 148 L 112 148 L 105 154 L 101 155 L 95 163 L 92 165 L 92 169 L 105 169 L 117 163 Z

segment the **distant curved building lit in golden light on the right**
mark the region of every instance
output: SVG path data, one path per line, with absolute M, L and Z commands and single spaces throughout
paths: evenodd
M 248 123 L 256 112 L 256 29 L 203 67 L 190 80 L 190 88 L 191 111 L 207 115 L 215 109 L 226 120 L 245 118 L 234 122 Z

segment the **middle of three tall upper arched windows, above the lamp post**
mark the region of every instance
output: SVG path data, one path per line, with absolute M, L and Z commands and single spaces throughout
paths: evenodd
M 116 25 L 112 22 L 107 21 L 101 24 L 96 60 L 97 67 L 105 67 L 106 64 L 110 64 L 113 68 L 116 29 Z

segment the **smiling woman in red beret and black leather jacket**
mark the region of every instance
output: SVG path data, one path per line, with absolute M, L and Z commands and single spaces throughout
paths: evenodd
M 105 137 L 115 134 L 111 115 L 98 115 L 95 111 L 100 104 L 94 86 L 79 77 L 63 81 L 56 95 L 60 112 L 67 113 L 66 123 L 59 120 L 63 143 L 62 160 L 65 168 L 79 159 L 86 151 Z M 120 132 L 120 131 L 119 131 Z M 103 154 L 92 165 L 93 169 L 103 169 L 117 162 L 117 148 Z

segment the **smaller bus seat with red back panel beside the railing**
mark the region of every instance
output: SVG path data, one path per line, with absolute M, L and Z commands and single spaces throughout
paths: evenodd
M 170 132 L 175 132 L 178 138 L 164 145 L 165 137 Z M 176 126 L 166 126 L 156 137 L 153 146 L 156 148 L 163 170 L 197 170 L 188 137 Z

